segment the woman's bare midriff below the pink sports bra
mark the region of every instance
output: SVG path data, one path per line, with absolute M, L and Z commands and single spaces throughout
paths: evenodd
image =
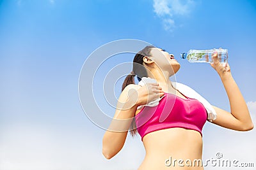
M 204 169 L 202 136 L 195 130 L 172 127 L 150 132 L 143 145 L 146 155 L 138 170 Z

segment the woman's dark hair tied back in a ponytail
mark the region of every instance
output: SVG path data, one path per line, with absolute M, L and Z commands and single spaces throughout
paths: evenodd
M 147 69 L 143 66 L 143 57 L 150 56 L 150 48 L 155 48 L 155 46 L 148 45 L 143 48 L 140 52 L 136 53 L 133 59 L 132 64 L 132 74 L 128 74 L 124 80 L 124 83 L 122 85 L 122 91 L 127 87 L 129 84 L 135 84 L 134 76 L 137 76 L 138 81 L 141 80 L 143 77 L 147 77 Z M 130 126 L 130 133 L 133 136 L 136 135 L 137 128 L 136 128 L 136 122 L 135 118 L 132 119 L 131 126 Z

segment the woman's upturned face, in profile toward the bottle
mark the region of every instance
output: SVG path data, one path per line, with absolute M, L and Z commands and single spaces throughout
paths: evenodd
M 174 59 L 173 54 L 165 52 L 161 48 L 151 48 L 150 53 L 150 59 L 154 60 L 157 66 L 162 69 L 161 71 L 168 71 L 170 76 L 179 71 L 180 64 Z

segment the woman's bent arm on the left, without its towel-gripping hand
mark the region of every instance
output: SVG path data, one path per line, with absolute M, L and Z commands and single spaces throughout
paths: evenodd
M 131 87 L 132 85 L 127 86 L 121 93 L 113 120 L 102 139 L 102 153 L 106 159 L 114 157 L 124 146 L 127 132 L 135 115 L 137 105 L 134 99 L 128 96 L 128 90 Z

